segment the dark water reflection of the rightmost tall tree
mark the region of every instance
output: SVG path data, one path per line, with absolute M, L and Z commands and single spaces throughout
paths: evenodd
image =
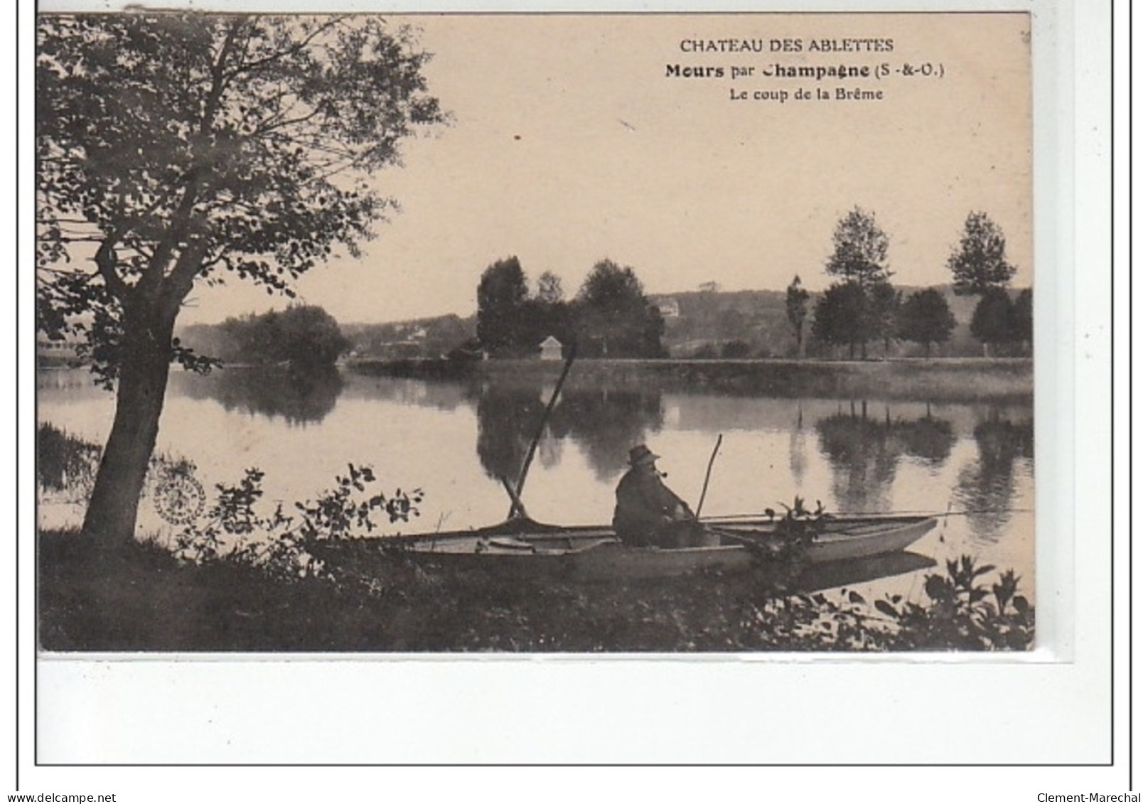
M 1032 458 L 1032 419 L 1014 424 L 994 411 L 972 431 L 978 459 L 957 477 L 956 498 L 969 513 L 969 526 L 979 541 L 998 541 L 1011 518 L 1016 494 L 1016 458 Z

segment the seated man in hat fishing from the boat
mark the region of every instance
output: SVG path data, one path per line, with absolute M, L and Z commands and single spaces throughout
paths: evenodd
M 630 450 L 630 469 L 615 492 L 614 533 L 635 547 L 685 547 L 699 526 L 690 507 L 661 481 L 658 457 L 645 444 Z

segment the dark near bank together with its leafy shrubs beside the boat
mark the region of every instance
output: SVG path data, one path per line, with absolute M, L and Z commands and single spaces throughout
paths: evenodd
M 166 471 L 180 471 L 176 463 Z M 377 520 L 418 516 L 421 492 L 375 490 L 348 466 L 332 489 L 285 509 L 264 505 L 263 472 L 217 486 L 177 535 L 180 571 L 135 544 L 102 564 L 41 534 L 41 632 L 53 649 L 243 650 L 1024 650 L 1035 611 L 1011 571 L 964 556 L 924 578 L 925 600 L 868 601 L 856 590 L 802 592 L 824 511 L 783 505 L 776 538 L 754 546 L 747 575 L 703 572 L 657 582 L 581 586 L 375 552 L 370 573 L 317 561 L 326 540 L 370 535 Z M 67 549 L 64 549 L 67 548 Z M 170 561 L 170 558 L 168 559 Z M 108 582 L 110 579 L 110 583 Z M 104 598 L 107 589 L 117 593 Z M 157 605 L 155 601 L 163 601 Z M 147 611 L 158 611 L 153 623 Z M 133 613 L 139 613 L 133 617 Z

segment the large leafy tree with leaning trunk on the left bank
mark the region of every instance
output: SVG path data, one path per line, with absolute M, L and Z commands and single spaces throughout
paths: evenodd
M 336 247 L 357 255 L 394 206 L 370 176 L 444 115 L 427 54 L 380 17 L 37 23 L 37 322 L 86 333 L 118 377 L 84 531 L 131 539 L 169 365 L 209 368 L 172 341 L 193 287 L 290 296 Z

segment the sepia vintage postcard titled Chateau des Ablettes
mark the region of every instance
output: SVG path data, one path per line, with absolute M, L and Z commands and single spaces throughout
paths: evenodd
M 1031 23 L 40 15 L 40 650 L 1030 651 Z

